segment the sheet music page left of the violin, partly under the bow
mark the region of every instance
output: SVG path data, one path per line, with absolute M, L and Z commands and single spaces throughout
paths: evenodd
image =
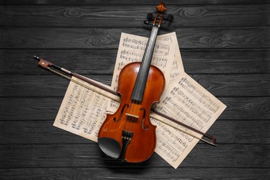
M 96 91 L 92 91 L 71 81 L 53 125 L 73 134 L 88 138 L 91 141 L 98 142 L 98 131 L 106 118 L 107 104 L 111 98 L 118 97 L 98 87 L 93 87 L 91 84 L 83 82 L 78 78 L 72 77 L 72 79 L 82 84 L 87 84 L 87 86 L 96 89 Z M 102 86 L 110 88 L 105 84 L 102 84 Z M 96 92 L 105 93 L 111 98 L 107 98 Z

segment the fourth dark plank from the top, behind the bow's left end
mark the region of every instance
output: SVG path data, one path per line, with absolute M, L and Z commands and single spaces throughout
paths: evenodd
M 180 49 L 186 73 L 269 73 L 270 49 Z M 80 73 L 112 74 L 117 49 L 0 49 L 0 74 L 48 74 L 37 67 L 33 56 Z M 19 71 L 18 71 L 19 69 Z M 29 71 L 30 70 L 30 71 Z

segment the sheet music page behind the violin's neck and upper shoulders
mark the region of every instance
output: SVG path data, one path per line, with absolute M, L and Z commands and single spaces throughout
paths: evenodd
M 174 37 L 172 37 L 172 34 L 174 34 Z M 116 64 L 114 67 L 114 75 L 111 82 L 111 87 L 113 87 L 114 91 L 117 89 L 118 75 L 121 69 L 123 69 L 123 66 L 130 62 L 141 62 L 143 59 L 147 41 L 147 37 L 130 35 L 127 33 L 121 34 Z M 163 71 L 166 80 L 170 80 L 176 46 L 177 38 L 175 33 L 159 35 L 156 38 L 151 64 Z M 169 81 L 166 81 L 166 86 L 168 86 L 168 84 Z

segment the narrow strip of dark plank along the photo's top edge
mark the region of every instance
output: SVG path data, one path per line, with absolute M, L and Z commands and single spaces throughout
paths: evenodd
M 125 0 L 118 0 L 118 1 L 110 1 L 110 0 L 84 0 L 84 1 L 76 1 L 76 0 L 46 0 L 46 1 L 38 1 L 38 0 L 1 0 L 0 4 L 11 5 L 11 4 L 37 4 L 37 5 L 92 5 L 92 6 L 119 6 L 119 5 L 152 5 L 156 6 L 157 1 L 155 0 L 136 0 L 136 1 L 125 1 Z M 182 0 L 182 1 L 174 1 L 174 0 L 166 0 L 166 5 L 207 5 L 207 4 L 264 4 L 269 3 L 267 0 L 261 1 L 252 1 L 252 0 Z

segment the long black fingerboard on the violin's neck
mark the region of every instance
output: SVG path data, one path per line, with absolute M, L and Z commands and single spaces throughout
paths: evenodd
M 138 75 L 132 92 L 132 101 L 136 104 L 141 104 L 143 100 L 143 94 L 145 92 L 145 86 L 148 78 L 148 73 L 150 71 L 152 56 L 154 53 L 154 45 L 156 44 L 156 36 L 158 35 L 158 33 L 159 26 L 154 25 L 147 42 L 147 46 L 145 48 L 143 60 L 141 62 L 141 66 L 138 71 Z

